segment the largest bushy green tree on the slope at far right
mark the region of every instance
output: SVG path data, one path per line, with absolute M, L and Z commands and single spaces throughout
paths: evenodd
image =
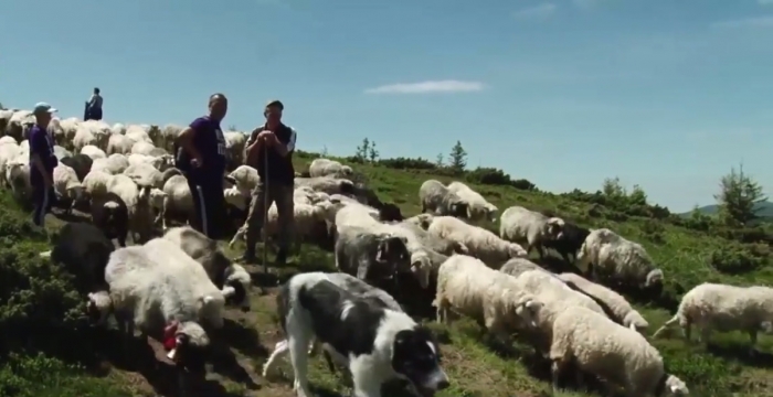
M 719 205 L 720 219 L 728 224 L 746 225 L 759 218 L 758 204 L 765 202 L 767 196 L 762 186 L 743 172 L 743 164 L 738 170 L 733 167 L 730 173 L 719 181 L 719 194 L 714 195 Z

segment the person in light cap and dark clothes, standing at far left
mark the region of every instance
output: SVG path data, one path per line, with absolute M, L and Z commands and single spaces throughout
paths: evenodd
M 43 226 L 45 214 L 51 210 L 54 196 L 54 169 L 59 165 L 54 155 L 54 139 L 47 128 L 52 114 L 56 109 L 45 103 L 39 103 L 32 110 L 35 125 L 30 130 L 30 184 L 32 185 L 32 203 L 34 212 L 32 222 Z

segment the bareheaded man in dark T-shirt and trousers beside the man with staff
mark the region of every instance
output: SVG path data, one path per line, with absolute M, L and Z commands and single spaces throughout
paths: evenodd
M 199 117 L 179 136 L 176 167 L 188 179 L 198 219 L 193 228 L 216 239 L 223 235 L 225 198 L 223 176 L 225 173 L 225 138 L 220 122 L 229 110 L 229 100 L 223 94 L 210 96 L 209 115 Z

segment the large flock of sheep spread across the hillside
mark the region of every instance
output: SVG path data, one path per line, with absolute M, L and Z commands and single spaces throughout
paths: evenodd
M 30 194 L 25 133 L 32 122 L 30 111 L 0 110 L 0 183 L 20 200 Z M 49 129 L 57 143 L 60 203 L 65 211 L 85 205 L 93 218 L 93 224 L 67 224 L 52 259 L 86 275 L 84 293 L 100 322 L 113 313 L 127 337 L 135 326 L 158 335 L 174 324 L 170 357 L 190 365 L 201 361 L 197 352 L 209 344 L 205 328 L 223 325 L 225 304 L 250 310 L 251 279 L 216 242 L 168 225 L 168 219 L 186 223 L 195 216 L 188 184 L 169 154 L 182 128 L 71 118 L 54 120 Z M 226 141 L 225 197 L 239 223 L 258 176 L 241 164 L 245 136 L 227 132 Z M 317 159 L 308 173 L 296 178 L 295 230 L 298 244 L 316 243 L 335 253 L 340 273 L 318 277 L 337 288 L 384 310 L 431 303 L 437 321 L 460 314 L 499 339 L 516 334 L 552 363 L 554 387 L 572 364 L 627 396 L 688 394 L 684 382 L 665 372 L 661 355 L 644 336 L 647 321 L 615 291 L 657 291 L 663 285 L 663 271 L 642 245 L 522 206 L 499 216 L 495 205 L 462 182 L 425 181 L 417 192 L 422 214 L 404 218 L 394 204 L 352 182 L 348 165 Z M 277 232 L 276 217 L 273 206 L 265 227 L 269 236 Z M 476 226 L 497 218 L 499 235 Z M 137 245 L 126 247 L 129 232 Z M 113 238 L 123 248 L 115 249 Z M 240 238 L 234 235 L 231 244 Z M 554 273 L 530 261 L 532 249 L 540 257 L 546 249 L 555 250 L 584 277 Z M 405 277 L 415 286 L 396 282 Z M 406 293 L 406 288 L 423 293 Z M 427 296 L 428 301 L 417 302 Z M 688 339 L 690 325 L 699 326 L 705 341 L 711 330 L 744 331 L 753 347 L 758 331 L 773 331 L 773 289 L 697 286 L 653 337 L 676 322 Z M 341 361 L 341 354 L 324 347 L 332 369 L 331 356 Z M 305 379 L 298 380 L 295 369 L 298 388 Z

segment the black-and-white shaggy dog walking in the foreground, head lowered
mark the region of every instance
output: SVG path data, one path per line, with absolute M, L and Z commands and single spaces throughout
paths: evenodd
M 307 361 L 315 339 L 348 363 L 357 397 L 381 397 L 382 384 L 393 378 L 409 380 L 425 397 L 449 386 L 430 330 L 401 311 L 341 289 L 324 273 L 287 281 L 277 296 L 277 311 L 287 340 L 277 343 L 264 374 L 289 352 L 298 397 L 311 396 Z

